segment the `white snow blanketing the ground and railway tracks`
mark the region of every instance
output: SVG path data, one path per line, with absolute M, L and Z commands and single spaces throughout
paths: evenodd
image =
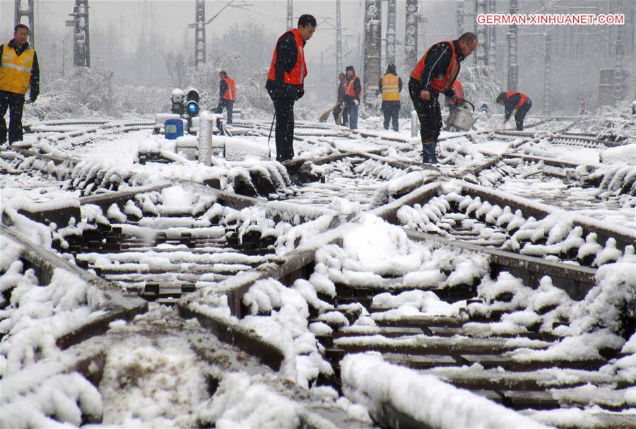
M 386 423 L 377 416 L 382 416 L 382 404 L 387 403 L 397 404 L 406 415 L 439 427 L 539 427 L 542 423 L 595 427 L 601 425 L 601 417 L 596 415 L 605 412 L 602 406 L 611 401 L 627 410 L 617 413 L 620 417 L 628 421 L 636 419 L 636 338 L 633 335 L 625 338 L 628 328 L 620 324 L 621 320 L 633 321 L 636 317 L 634 249 L 630 246 L 612 249 L 611 245 L 603 249 L 596 242 L 587 242 L 585 247 L 585 237 L 575 227 L 575 222 L 589 221 L 634 236 L 636 196 L 629 188 L 627 192 L 621 189 L 630 181 L 633 189 L 636 142 L 621 148 L 623 155 L 616 150 L 618 154 L 612 155 L 606 150 L 607 156 L 603 156 L 599 149 L 553 146 L 541 138 L 524 140 L 519 136 L 490 134 L 493 125 L 486 119 L 481 118 L 478 129 L 469 133 L 442 132 L 440 159 L 444 163 L 435 171 L 420 165 L 419 140 L 411 137 L 410 121 L 406 119 L 401 121 L 399 133 L 382 130 L 377 117 L 361 120 L 360 132 L 353 133 L 335 126 L 325 129 L 324 124 L 318 123 L 314 128 L 310 124 L 298 127 L 299 140 L 294 142 L 298 157 L 311 160 L 345 151 L 382 149 L 378 158 L 352 156 L 334 163 L 310 165 L 324 183 L 292 182 L 287 170 L 269 159 L 269 128 L 263 122 L 245 122 L 247 128 L 236 127 L 232 137 L 214 136 L 216 153 L 224 149 L 225 158 L 214 156 L 210 166 L 194 160 L 196 138 L 186 136 L 168 141 L 162 135 L 152 134 L 151 129 L 112 134 L 98 131 L 88 143 L 83 143 L 86 136 L 82 135 L 49 139 L 56 135 L 53 131 L 48 136 L 41 134 L 38 139 L 27 135 L 25 144 L 20 145 L 30 151 L 75 158 L 79 161 L 76 165 L 56 166 L 52 161 L 35 160 L 24 152 L 3 148 L 0 158 L 3 228 L 30 240 L 35 249 L 52 251 L 55 237 L 64 237 L 64 233 L 78 228 L 93 228 L 91 225 L 95 223 L 126 225 L 138 212 L 142 220 L 135 221 L 129 230 L 177 228 L 174 219 L 190 213 L 194 223 L 184 226 L 190 222 L 187 218 L 178 228 L 201 228 L 201 235 L 211 236 L 214 228 L 211 219 L 218 217 L 228 225 L 235 222 L 239 230 L 242 225 L 240 233 L 257 228 L 263 235 L 266 231 L 276 235 L 274 257 L 281 261 L 288 254 L 310 249 L 315 253 L 316 264 L 308 279 L 298 279 L 291 287 L 276 278 L 260 278 L 243 296 L 248 314 L 240 319 L 232 315 L 227 295 L 219 288 L 228 288 L 249 276 L 257 278 L 254 273 L 267 272 L 276 266 L 276 260 L 263 259 L 264 264 L 258 270 L 241 269 L 241 274 L 223 281 L 201 278 L 196 292 L 185 295 L 180 302 L 189 310 L 220 319 L 278 348 L 283 356 L 281 368 L 272 370 L 247 353 L 218 341 L 196 319 L 179 317 L 176 307 L 156 303 L 128 322 L 119 318 L 111 321 L 103 334 L 69 348 L 61 347 L 58 342 L 61 337 L 114 311 L 114 302 L 124 299 L 124 288 L 107 293 L 90 278 L 62 268 L 55 269 L 49 281 L 43 281 L 21 257 L 25 245 L 3 233 L 2 426 L 362 428 Z M 636 128 L 633 118 L 621 120 L 625 124 L 621 122 L 617 128 Z M 531 121 L 530 117 L 528 122 Z M 579 124 L 579 129 L 594 129 L 598 122 L 590 118 L 589 125 Z M 561 127 L 562 123 L 547 122 L 544 127 L 531 127 L 531 131 L 544 133 L 547 138 Z M 67 125 L 59 132 L 83 128 L 86 126 Z M 240 132 L 245 129 L 251 135 Z M 382 139 L 383 136 L 394 139 Z M 270 145 L 274 146 L 273 141 Z M 139 163 L 140 155 L 151 153 L 170 162 Z M 469 172 L 470 168 L 510 153 L 575 161 L 590 165 L 594 171 L 582 167 L 572 169 L 572 177 L 570 173 L 560 177 L 548 175 L 549 168 L 543 163 L 500 160 L 494 170 L 482 170 L 477 175 Z M 383 160 L 409 166 L 402 170 Z M 177 180 L 199 184 L 218 180 L 221 190 L 234 192 L 255 175 L 271 183 L 269 194 L 261 195 L 260 204 L 264 208 L 223 208 L 215 199 L 210 197 L 207 201 L 205 194 L 176 184 Z M 591 175 L 599 177 L 599 187 L 586 182 Z M 440 207 L 449 202 L 466 207 L 474 203 L 473 199 L 468 201 L 469 197 L 454 193 L 461 188 L 455 181 L 462 179 L 488 187 L 490 192 L 512 201 L 527 199 L 536 206 L 550 206 L 551 217 L 542 221 L 514 218 L 512 211 L 486 207 L 481 201 L 473 210 L 482 210 L 486 219 L 490 216 L 491 223 L 499 226 L 515 223 L 514 230 L 518 231 L 508 242 L 508 249 L 514 248 L 514 242 L 518 248 L 519 242 L 523 247 L 523 240 L 532 239 L 534 243 L 535 239 L 546 239 L 526 245 L 526 254 L 534 252 L 535 256 L 546 257 L 552 254 L 550 245 L 565 247 L 572 242 L 577 243 L 577 249 L 584 249 L 583 256 L 594 252 L 597 256 L 594 266 L 598 270 L 596 284 L 588 295 L 579 301 L 572 300 L 563 290 L 555 288 L 548 276 L 541 280 L 538 289 L 508 273 L 491 278 L 487 257 L 432 242 L 415 242 L 399 226 L 366 213 L 394 201 L 396 189 L 439 182 L 443 189 L 437 200 L 428 206 L 405 206 L 396 216 L 402 225 L 442 233 Z M 175 186 L 154 194 L 144 190 L 166 182 Z M 136 189 L 148 197 L 144 197 L 143 204 L 139 203 L 141 207 L 131 204 L 122 210 L 116 205 L 108 211 L 83 206 L 83 218 L 72 225 L 45 225 L 20 213 L 20 209 L 33 208 L 34 204 L 40 210 L 78 207 L 81 196 L 108 194 L 114 189 Z M 265 197 L 271 201 L 268 203 Z M 197 205 L 202 207 L 201 211 L 194 209 Z M 159 224 L 159 217 L 143 217 L 142 212 L 153 210 L 163 213 L 165 225 Z M 278 221 L 279 218 L 283 220 Z M 461 222 L 465 218 L 456 216 L 455 220 Z M 63 231 L 64 228 L 69 229 Z M 484 238 L 495 235 L 493 231 L 481 233 Z M 174 250 L 170 246 L 161 249 Z M 61 259 L 75 264 L 70 254 Z M 102 266 L 123 266 L 134 258 L 129 254 L 117 259 L 94 253 L 85 259 Z M 141 259 L 135 262 L 145 264 L 146 269 L 175 264 L 160 252 L 148 252 Z M 185 271 L 198 263 L 199 259 L 194 258 L 179 262 Z M 246 266 L 245 258 L 222 263 Z M 341 283 L 387 286 L 391 293 L 373 298 L 373 305 L 384 307 L 385 311 L 370 314 L 362 309 L 351 323 L 344 316 L 351 308 L 335 308 L 325 301 L 336 295 L 336 284 Z M 430 290 L 424 290 L 424 286 L 453 288 L 473 283 L 478 285 L 481 302 L 443 302 Z M 495 299 L 502 293 L 512 297 L 505 305 Z M 310 316 L 314 310 L 318 310 L 318 317 Z M 524 337 L 510 339 L 506 345 L 513 350 L 509 357 L 517 363 L 601 358 L 606 349 L 620 353 L 589 374 L 550 370 L 553 372 L 546 375 L 547 386 L 567 387 L 577 380 L 578 387 L 572 388 L 572 392 L 558 389 L 555 395 L 563 395 L 564 403 L 574 401 L 579 406 L 528 411 L 525 415 L 452 385 L 451 380 L 457 377 L 453 371 L 483 375 L 487 370 L 476 366 L 479 364 L 437 368 L 423 374 L 396 365 L 379 353 L 349 354 L 338 368 L 342 395 L 316 382 L 319 377 L 334 377 L 336 372 L 326 358 L 324 346 L 317 342 L 318 337 L 332 334 L 334 327 L 371 334 L 363 340 L 360 340 L 363 337 L 334 340 L 336 345 L 346 347 L 357 344 L 356 341 L 365 344 L 380 341 L 372 334 L 384 319 L 461 318 L 497 311 L 509 313 L 488 327 L 487 332 L 482 331 L 480 324 L 468 324 L 465 329 L 482 336 L 483 341 L 493 340 L 493 347 L 496 341 L 488 337 L 523 334 L 535 324 L 555 337 L 550 343 Z M 558 323 L 563 321 L 567 324 Z M 465 339 L 454 336 L 447 341 L 459 344 Z M 422 345 L 437 340 L 418 335 L 391 341 Z M 83 368 L 82 375 L 78 368 Z M 98 379 L 91 380 L 90 375 L 96 374 Z M 606 378 L 601 380 L 602 377 Z M 582 402 L 588 405 L 580 406 Z

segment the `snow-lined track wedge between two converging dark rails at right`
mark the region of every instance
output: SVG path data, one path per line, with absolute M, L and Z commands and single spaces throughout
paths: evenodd
M 609 228 L 548 204 L 460 183 L 451 192 L 428 185 L 436 192 L 405 201 L 396 209 L 396 223 L 450 240 L 581 266 L 616 261 L 636 242 L 630 228 Z

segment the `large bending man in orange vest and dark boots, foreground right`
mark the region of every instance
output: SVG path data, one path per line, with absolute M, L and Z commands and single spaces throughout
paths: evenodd
M 477 47 L 477 36 L 464 33 L 457 40 L 437 42 L 428 48 L 420 58 L 408 81 L 408 94 L 420 119 L 420 136 L 424 163 L 437 163 L 435 147 L 442 129 L 440 93 L 460 102 L 455 95 L 453 82 L 459 74 L 461 61 L 464 61 Z

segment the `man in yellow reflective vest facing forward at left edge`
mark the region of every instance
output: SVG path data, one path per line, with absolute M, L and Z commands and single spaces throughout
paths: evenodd
M 29 28 L 16 25 L 13 39 L 0 45 L 0 144 L 6 143 L 4 115 L 9 109 L 8 142 L 22 141 L 24 95 L 30 89 L 28 102 L 40 93 L 40 67 L 35 49 L 29 45 Z

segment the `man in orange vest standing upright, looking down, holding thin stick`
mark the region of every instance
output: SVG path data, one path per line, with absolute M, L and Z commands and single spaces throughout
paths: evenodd
M 301 15 L 298 28 L 278 37 L 265 88 L 276 110 L 276 160 L 294 158 L 294 102 L 305 95 L 305 43 L 316 31 L 316 18 Z

